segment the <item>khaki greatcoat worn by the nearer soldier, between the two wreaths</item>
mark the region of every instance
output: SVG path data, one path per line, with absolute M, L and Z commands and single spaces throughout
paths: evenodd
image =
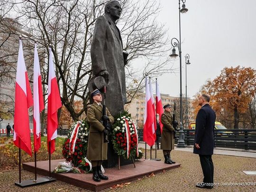
M 110 115 L 107 109 L 107 115 L 110 118 L 110 123 L 114 122 L 114 117 Z M 104 126 L 101 124 L 102 106 L 97 103 L 93 103 L 88 106 L 87 120 L 90 126 L 88 147 L 87 147 L 87 159 L 89 160 L 105 160 L 107 158 L 108 143 L 104 142 Z

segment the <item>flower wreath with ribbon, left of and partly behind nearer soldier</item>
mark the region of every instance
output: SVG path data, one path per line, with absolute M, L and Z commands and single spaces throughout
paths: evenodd
M 74 130 L 75 129 L 75 130 Z M 74 130 L 74 131 L 73 131 Z M 72 161 L 75 167 L 85 162 L 89 135 L 89 124 L 86 121 L 73 123 L 63 144 L 62 154 L 67 161 Z

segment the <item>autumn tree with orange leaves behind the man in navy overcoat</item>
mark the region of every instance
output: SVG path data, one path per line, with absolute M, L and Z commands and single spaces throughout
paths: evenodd
M 234 128 L 238 129 L 239 115 L 248 110 L 256 93 L 256 71 L 251 67 L 225 67 L 201 91 L 211 95 L 210 105 L 216 112 L 232 112 Z

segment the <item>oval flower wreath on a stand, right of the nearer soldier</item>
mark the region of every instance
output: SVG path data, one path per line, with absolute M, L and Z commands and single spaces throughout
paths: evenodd
M 125 159 L 139 155 L 137 128 L 127 111 L 116 119 L 111 135 L 114 150 L 118 155 Z

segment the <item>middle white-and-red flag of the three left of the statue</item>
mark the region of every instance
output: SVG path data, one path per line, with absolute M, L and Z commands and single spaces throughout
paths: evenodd
M 37 44 L 34 51 L 34 77 L 33 77 L 33 100 L 34 100 L 34 152 L 41 147 L 40 112 L 45 108 Z

